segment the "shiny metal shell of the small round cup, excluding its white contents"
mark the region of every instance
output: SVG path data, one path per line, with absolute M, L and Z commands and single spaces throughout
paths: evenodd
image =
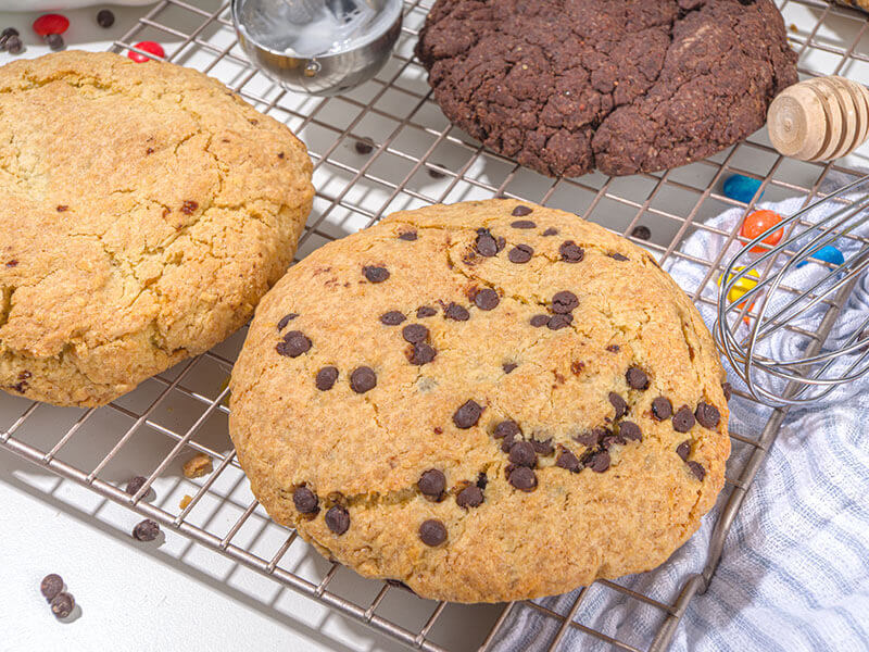
M 239 43 L 256 67 L 281 86 L 317 96 L 337 95 L 374 77 L 389 60 L 401 33 L 402 11 L 383 28 L 354 38 L 352 47 L 331 54 L 302 57 L 290 50 L 276 50 L 263 42 L 249 24 L 249 9 L 263 0 L 232 0 L 232 22 Z M 275 0 L 280 2 L 281 0 Z M 390 0 L 366 0 L 378 11 Z M 399 3 L 400 4 L 400 3 Z

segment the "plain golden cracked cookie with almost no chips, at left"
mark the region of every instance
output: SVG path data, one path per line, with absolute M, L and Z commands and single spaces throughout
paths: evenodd
M 100 405 L 244 324 L 311 209 L 280 123 L 168 63 L 0 68 L 0 388 Z

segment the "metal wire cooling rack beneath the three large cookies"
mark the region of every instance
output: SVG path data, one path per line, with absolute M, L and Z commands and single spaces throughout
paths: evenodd
M 821 195 L 821 184 L 831 172 L 857 174 L 856 167 L 866 159 L 864 150 L 835 166 L 786 160 L 758 134 L 707 161 L 660 174 L 607 178 L 595 173 L 577 179 L 549 179 L 482 149 L 452 128 L 431 101 L 425 72 L 412 55 L 431 0 L 406 3 L 399 47 L 376 80 L 330 99 L 289 93 L 249 67 L 235 38 L 228 2 L 218 7 L 215 0 L 212 4 L 202 9 L 181 0 L 162 0 L 113 49 L 123 53 L 140 40 L 168 43 L 171 61 L 218 77 L 302 138 L 315 163 L 318 192 L 300 242 L 300 258 L 395 210 L 506 196 L 603 224 L 645 247 L 660 262 L 677 259 L 702 265 L 706 275 L 690 294 L 698 303 L 711 304 L 703 290 L 716 283 L 723 269 L 723 253 L 704 260 L 681 252 L 680 244 L 697 230 L 726 238 L 721 252 L 740 239 L 735 230 L 703 224 L 729 208 L 753 208 L 723 197 L 719 190 L 723 178 L 733 173 L 755 177 L 761 180 L 767 200 L 805 196 L 808 203 Z M 820 0 L 778 0 L 778 4 L 789 38 L 799 52 L 803 76 L 841 74 L 869 80 L 865 15 Z M 374 150 L 360 153 L 355 143 L 366 138 L 374 141 Z M 638 238 L 637 226 L 648 227 L 651 239 Z M 822 341 L 826 335 L 815 337 Z M 242 339 L 243 331 L 100 410 L 59 409 L 2 394 L 0 448 L 153 518 L 312 601 L 429 652 L 489 650 L 503 634 L 508 616 L 520 610 L 533 610 L 556 624 L 551 651 L 570 629 L 588 635 L 590 643 L 596 639 L 620 650 L 666 650 L 692 598 L 706 590 L 729 527 L 785 416 L 782 410 L 770 410 L 768 422 L 758 431 L 731 434 L 734 454 L 707 563 L 685 577 L 670 600 L 650 598 L 620 582 L 597 581 L 580 591 L 561 613 L 530 601 L 492 607 L 414 598 L 410 599 L 415 601 L 413 610 L 385 615 L 390 600 L 408 601 L 400 588 L 363 580 L 320 560 L 297 540 L 294 531 L 272 523 L 249 493 L 226 435 L 226 379 Z M 193 451 L 215 460 L 214 472 L 196 482 L 179 473 L 180 463 Z M 137 460 L 136 467 L 130 457 Z M 139 496 L 130 497 L 123 486 L 137 474 L 148 475 L 148 485 Z M 143 496 L 154 482 L 165 487 L 167 479 L 168 490 L 161 489 L 159 502 Z M 192 500 L 180 509 L 178 500 L 185 493 Z M 655 572 L 646 576 L 654 584 Z M 654 636 L 617 640 L 596 629 L 594 623 L 583 619 L 583 601 L 590 590 L 654 610 L 659 622 Z M 467 622 L 468 612 L 487 623 L 487 634 L 477 640 L 455 631 Z

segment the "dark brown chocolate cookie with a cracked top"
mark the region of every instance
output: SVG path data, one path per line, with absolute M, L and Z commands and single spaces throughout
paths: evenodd
M 697 161 L 797 80 L 771 0 L 438 0 L 416 55 L 451 122 L 550 176 Z

